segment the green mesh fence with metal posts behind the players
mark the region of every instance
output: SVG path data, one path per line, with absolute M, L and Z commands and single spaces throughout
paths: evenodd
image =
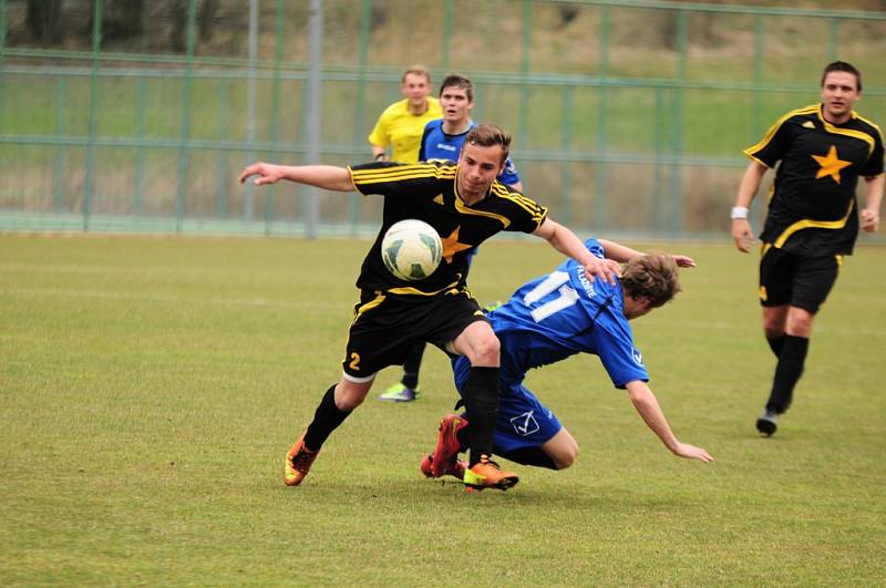
M 884 54 L 886 13 L 848 9 L 0 0 L 0 229 L 372 234 L 377 199 L 236 177 L 256 159 L 369 159 L 375 117 L 421 62 L 435 83 L 474 80 L 474 118 L 514 134 L 527 194 L 558 220 L 722 237 L 741 149 L 817 100 L 825 63 L 858 66 L 858 111 L 886 121 Z

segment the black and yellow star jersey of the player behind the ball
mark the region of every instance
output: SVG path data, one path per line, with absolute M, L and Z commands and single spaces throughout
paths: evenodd
M 502 230 L 533 233 L 547 208 L 495 180 L 485 198 L 467 206 L 456 186 L 453 162 L 370 163 L 349 167 L 354 188 L 384 196 L 382 225 L 369 250 L 357 287 L 396 295 L 433 296 L 466 289 L 468 250 Z M 403 281 L 392 276 L 381 258 L 381 241 L 399 220 L 418 218 L 436 229 L 443 240 L 443 260 L 430 277 Z

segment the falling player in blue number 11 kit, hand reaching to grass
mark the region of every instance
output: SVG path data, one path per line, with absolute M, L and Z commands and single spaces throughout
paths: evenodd
M 552 470 L 569 467 L 578 443 L 556 415 L 523 385 L 526 372 L 577 353 L 598 355 L 612 384 L 626 389 L 643 422 L 664 446 L 680 457 L 710 462 L 701 447 L 681 443 L 647 385 L 649 375 L 633 344 L 629 320 L 663 306 L 680 291 L 678 266 L 692 267 L 686 256 L 640 254 L 611 241 L 588 239 L 596 257 L 627 262 L 615 285 L 589 281 L 580 265 L 569 260 L 536 278 L 488 314 L 501 341 L 502 394 L 494 435 L 495 453 L 524 465 Z M 461 391 L 471 368 L 453 360 Z M 464 471 L 459 453 L 467 446 L 470 426 L 464 416 L 450 414 L 441 423 L 434 453 L 422 461 L 427 477 Z

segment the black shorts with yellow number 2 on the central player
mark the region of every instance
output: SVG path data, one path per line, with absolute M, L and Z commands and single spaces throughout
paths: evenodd
M 388 365 L 402 365 L 416 341 L 446 351 L 447 343 L 481 320 L 487 319 L 465 292 L 421 297 L 362 290 L 341 364 L 352 380 L 368 381 Z

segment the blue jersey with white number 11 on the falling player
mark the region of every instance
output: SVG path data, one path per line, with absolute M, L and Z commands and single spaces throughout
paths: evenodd
M 604 257 L 596 239 L 588 239 L 585 246 L 595 256 Z M 503 389 L 506 383 L 519 384 L 532 368 L 576 353 L 598 355 L 616 388 L 649 380 L 625 317 L 621 285 L 601 279 L 591 282 L 574 259 L 524 285 L 488 318 L 502 343 Z M 466 358 L 459 358 L 456 363 Z M 457 380 L 462 374 L 466 378 L 467 370 L 455 367 L 461 389 Z

